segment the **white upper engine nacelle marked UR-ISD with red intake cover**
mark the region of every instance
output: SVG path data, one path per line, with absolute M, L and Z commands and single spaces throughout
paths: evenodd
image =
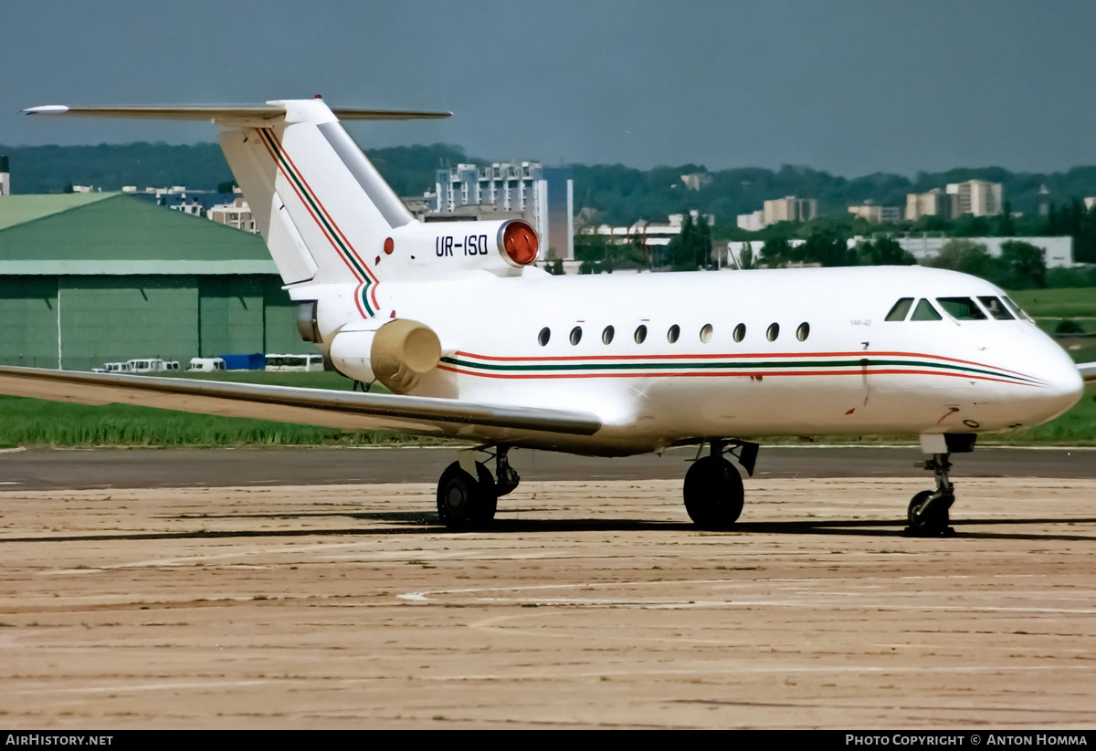
M 384 242 L 386 256 L 438 274 L 466 269 L 521 273 L 537 259 L 539 250 L 536 230 L 520 219 L 414 222 L 392 230 Z

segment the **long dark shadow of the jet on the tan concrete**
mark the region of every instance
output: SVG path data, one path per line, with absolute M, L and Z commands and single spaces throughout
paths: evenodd
M 522 509 L 523 512 L 529 510 Z M 426 511 L 392 511 L 392 512 L 306 512 L 306 513 L 252 513 L 252 515 L 181 515 L 170 517 L 184 521 L 213 521 L 254 519 L 269 521 L 272 519 L 322 519 L 350 518 L 362 521 L 387 522 L 399 527 L 381 529 L 342 528 L 342 529 L 300 529 L 300 530 L 196 530 L 190 532 L 140 532 L 83 534 L 34 538 L 8 538 L 3 542 L 65 542 L 71 540 L 180 540 L 180 539 L 225 539 L 225 538 L 305 538 L 305 536 L 370 536 L 387 534 L 437 534 L 454 533 L 447 530 L 436 513 Z M 1047 532 L 1009 532 L 1008 528 L 1019 525 L 1052 525 L 1054 529 L 1072 524 L 1093 524 L 1096 518 L 1085 519 L 959 519 L 952 520 L 954 539 L 969 540 L 1040 540 L 1065 542 L 1092 542 L 1096 535 L 1065 534 L 1055 531 Z M 1001 531 L 986 531 L 985 528 Z M 699 530 L 689 522 L 653 521 L 643 519 L 499 519 L 489 530 L 493 534 L 515 533 L 551 533 L 551 532 L 699 532 L 703 534 L 824 534 L 831 536 L 860 538 L 895 538 L 903 536 L 904 520 L 867 520 L 867 519 L 807 519 L 789 521 L 739 522 L 728 530 Z M 978 530 L 973 528 L 980 528 Z M 469 531 L 465 534 L 476 534 Z M 482 532 L 479 532 L 482 533 Z M 456 534 L 461 534 L 456 532 Z

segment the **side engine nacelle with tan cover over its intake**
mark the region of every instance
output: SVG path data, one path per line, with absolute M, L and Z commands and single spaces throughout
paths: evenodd
M 424 323 L 372 319 L 340 330 L 330 356 L 343 376 L 363 383 L 380 381 L 393 394 L 407 394 L 437 367 L 442 343 Z

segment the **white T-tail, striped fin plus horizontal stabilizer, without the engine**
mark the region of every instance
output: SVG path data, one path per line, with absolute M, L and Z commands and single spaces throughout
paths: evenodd
M 354 285 L 354 303 L 365 317 L 379 310 L 377 285 L 381 277 L 377 267 L 383 256 L 392 253 L 397 230 L 402 238 L 424 246 L 436 240 L 418 231 L 419 222 L 343 130 L 335 113 L 319 99 L 242 106 L 48 104 L 23 112 L 49 117 L 216 123 L 224 128 L 220 145 L 228 164 L 285 284 Z M 449 116 L 445 112 L 338 112 L 357 120 Z M 486 238 L 476 245 L 481 254 L 487 253 Z M 454 242 L 452 233 L 447 242 Z M 385 274 L 398 274 L 401 264 L 415 261 L 415 256 L 391 261 Z M 423 258 L 418 257 L 418 263 L 421 266 Z

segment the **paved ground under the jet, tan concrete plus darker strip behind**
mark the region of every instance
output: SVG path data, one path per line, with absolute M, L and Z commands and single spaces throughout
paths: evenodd
M 922 540 L 901 536 L 931 480 L 916 453 L 878 460 L 910 476 L 863 458 L 844 477 L 758 473 L 722 533 L 688 523 L 683 463 L 541 463 L 518 465 L 492 530 L 453 533 L 433 476 L 272 485 L 274 451 L 253 453 L 259 482 L 213 482 L 247 453 L 193 452 L 207 485 L 176 487 L 150 482 L 197 474 L 163 470 L 187 463 L 173 452 L 0 454 L 20 483 L 0 485 L 0 724 L 1096 727 L 1092 476 L 957 471 L 956 536 Z M 94 486 L 104 455 L 161 473 Z

